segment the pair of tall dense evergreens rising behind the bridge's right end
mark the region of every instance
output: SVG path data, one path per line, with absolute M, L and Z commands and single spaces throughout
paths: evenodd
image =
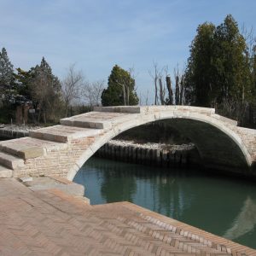
M 236 20 L 227 15 L 217 27 L 200 25 L 184 74 L 186 102 L 241 119 L 252 91 L 250 78 L 247 44 Z

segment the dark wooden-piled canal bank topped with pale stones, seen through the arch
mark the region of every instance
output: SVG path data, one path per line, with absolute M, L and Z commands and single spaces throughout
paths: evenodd
M 96 152 L 96 156 L 145 166 L 173 168 L 200 166 L 201 163 L 200 155 L 193 144 L 137 144 L 111 140 Z

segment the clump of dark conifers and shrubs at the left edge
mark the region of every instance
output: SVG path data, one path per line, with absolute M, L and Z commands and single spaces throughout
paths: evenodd
M 29 71 L 20 67 L 16 71 L 3 48 L 0 54 L 0 99 L 5 117 L 1 116 L 1 120 L 15 119 L 15 108 L 26 106 L 36 110 L 34 120 L 56 121 L 61 112 L 61 84 L 44 57 L 40 65 Z

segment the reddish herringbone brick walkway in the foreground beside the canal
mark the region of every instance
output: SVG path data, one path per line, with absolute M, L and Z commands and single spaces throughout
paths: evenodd
M 90 206 L 0 179 L 0 255 L 256 255 L 128 202 Z

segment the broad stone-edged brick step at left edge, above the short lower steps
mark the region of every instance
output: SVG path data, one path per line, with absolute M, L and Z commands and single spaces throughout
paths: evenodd
M 24 160 L 43 156 L 48 151 L 67 148 L 66 143 L 55 143 L 32 137 L 3 141 L 0 150 Z

